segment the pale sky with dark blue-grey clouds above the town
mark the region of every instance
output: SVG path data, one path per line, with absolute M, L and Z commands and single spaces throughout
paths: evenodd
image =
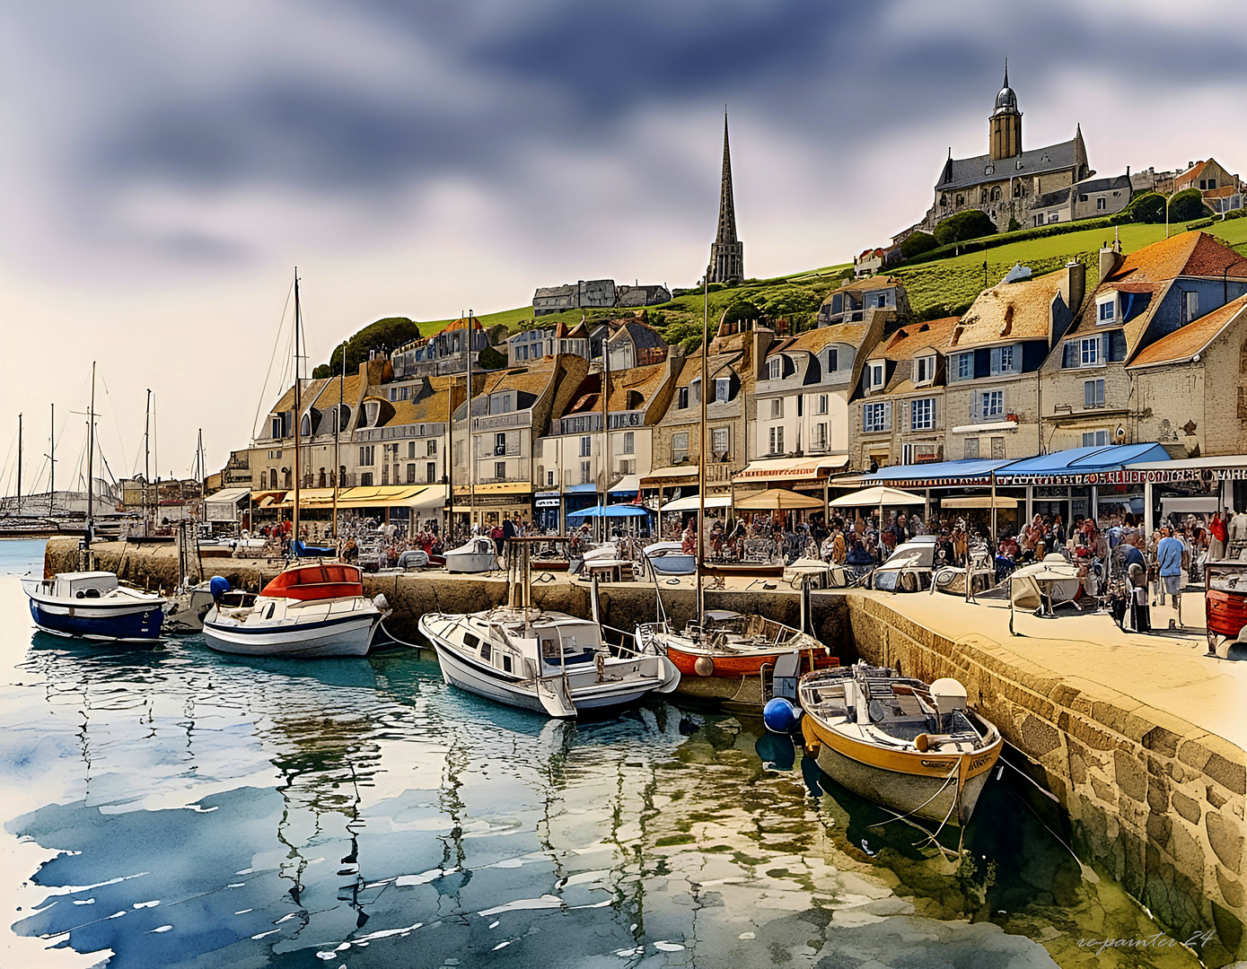
M 692 285 L 725 106 L 746 273 L 848 262 L 988 148 L 1009 57 L 1028 148 L 1101 174 L 1247 168 L 1247 14 L 1207 2 L 0 0 L 0 491 L 246 447 L 288 359 L 382 316 L 576 279 Z M 1210 30 L 1223 24 L 1226 30 Z M 273 357 L 278 364 L 272 364 Z M 288 370 L 288 365 L 287 365 Z

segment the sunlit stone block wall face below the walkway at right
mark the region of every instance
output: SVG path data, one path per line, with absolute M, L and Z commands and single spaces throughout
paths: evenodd
M 869 594 L 845 593 L 862 659 L 930 683 L 960 680 L 970 705 L 1064 808 L 1079 856 L 1120 882 L 1178 942 L 1212 933 L 1206 965 L 1247 958 L 1243 808 L 1247 755 L 1163 710 L 1008 646 L 953 640 Z

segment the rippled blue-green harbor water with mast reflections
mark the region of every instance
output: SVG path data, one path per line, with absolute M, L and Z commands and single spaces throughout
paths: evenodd
M 752 721 L 546 721 L 414 651 L 76 645 L 15 578 L 0 640 L 4 965 L 1195 964 L 1079 948 L 1157 929 L 995 782 L 958 866 Z

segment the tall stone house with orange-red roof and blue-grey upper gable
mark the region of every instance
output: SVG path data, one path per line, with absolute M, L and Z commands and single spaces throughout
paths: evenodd
M 1247 293 L 1247 259 L 1207 233 L 1188 232 L 1126 257 L 1101 249 L 1100 280 L 1040 370 L 1044 452 L 1156 440 L 1139 437 L 1127 364 Z

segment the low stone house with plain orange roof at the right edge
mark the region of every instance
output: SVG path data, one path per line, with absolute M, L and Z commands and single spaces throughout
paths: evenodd
M 1188 457 L 1247 453 L 1247 295 L 1145 346 L 1126 366 L 1136 441 Z

